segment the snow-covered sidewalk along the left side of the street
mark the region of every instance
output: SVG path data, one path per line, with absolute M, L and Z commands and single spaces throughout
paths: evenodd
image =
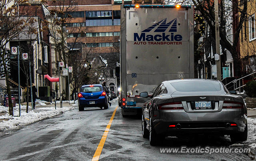
M 56 109 L 54 102 L 49 104 L 45 101 L 37 101 L 36 107 L 32 110 L 31 105 L 28 106 L 28 113 L 26 113 L 26 105 L 21 105 L 21 117 L 19 115 L 19 106 L 16 103 L 14 107 L 14 116 L 9 116 L 8 107 L 0 106 L 0 132 L 10 129 L 18 129 L 22 125 L 31 124 L 43 119 L 51 118 L 56 115 L 62 114 L 66 111 L 69 111 L 73 108 L 76 108 L 77 103 L 74 104 L 74 101 L 63 101 L 62 108 L 60 108 L 60 102 L 56 102 Z M 3 112 L 4 111 L 4 112 Z

